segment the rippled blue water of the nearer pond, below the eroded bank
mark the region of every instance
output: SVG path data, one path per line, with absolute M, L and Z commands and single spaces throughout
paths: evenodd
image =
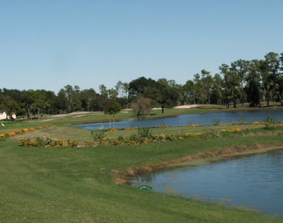
M 226 205 L 243 205 L 283 217 L 283 150 L 201 166 L 186 166 L 133 181 L 158 192 Z

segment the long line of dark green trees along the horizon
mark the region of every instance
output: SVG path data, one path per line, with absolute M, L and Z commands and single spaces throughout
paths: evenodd
M 115 102 L 122 108 L 135 108 L 146 114 L 149 107 L 171 108 L 180 104 L 226 104 L 236 107 L 248 103 L 258 107 L 271 101 L 283 103 L 283 53 L 270 52 L 265 59 L 239 59 L 219 66 L 219 73 L 196 73 L 182 84 L 175 80 L 140 77 L 129 83 L 118 81 L 114 88 L 99 86 L 81 90 L 66 85 L 57 95 L 48 90 L 8 90 L 0 88 L 0 112 L 17 116 L 66 114 L 74 111 L 108 111 Z M 144 109 L 146 107 L 146 109 Z M 144 111 L 145 110 L 145 111 Z

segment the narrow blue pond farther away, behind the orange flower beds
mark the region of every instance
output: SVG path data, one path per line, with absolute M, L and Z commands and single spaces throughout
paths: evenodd
M 165 111 L 166 112 L 166 111 Z M 272 116 L 276 121 L 283 121 L 283 109 L 262 109 L 256 111 L 224 111 L 205 114 L 184 114 L 172 117 L 163 118 L 138 118 L 116 121 L 115 128 L 129 127 L 156 127 L 164 126 L 187 126 L 188 123 L 195 125 L 213 125 L 214 119 L 220 119 L 220 123 L 232 123 L 233 121 L 241 122 L 241 119 L 246 119 L 248 123 L 253 121 L 264 121 L 266 116 Z M 109 128 L 109 123 L 91 123 L 76 125 L 83 129 L 99 129 Z

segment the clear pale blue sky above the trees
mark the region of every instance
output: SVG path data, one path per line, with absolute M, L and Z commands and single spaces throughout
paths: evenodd
M 0 88 L 108 89 L 283 52 L 282 0 L 0 0 Z

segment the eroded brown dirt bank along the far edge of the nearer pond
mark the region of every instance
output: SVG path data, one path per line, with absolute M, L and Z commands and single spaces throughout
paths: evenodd
M 239 155 L 251 155 L 260 154 L 270 150 L 283 150 L 283 143 L 275 144 L 260 144 L 260 145 L 250 145 L 250 146 L 235 146 L 235 147 L 224 147 L 219 150 L 212 152 L 198 152 L 195 155 L 190 155 L 187 157 L 181 157 L 178 159 L 171 159 L 166 162 L 161 162 L 159 164 L 150 164 L 143 167 L 129 167 L 127 171 L 120 172 L 115 171 L 112 174 L 116 183 L 131 184 L 131 179 L 141 176 L 143 174 L 150 174 L 154 171 L 161 171 L 174 166 L 180 165 L 200 165 L 206 164 L 207 162 L 213 162 L 219 159 L 233 159 Z

